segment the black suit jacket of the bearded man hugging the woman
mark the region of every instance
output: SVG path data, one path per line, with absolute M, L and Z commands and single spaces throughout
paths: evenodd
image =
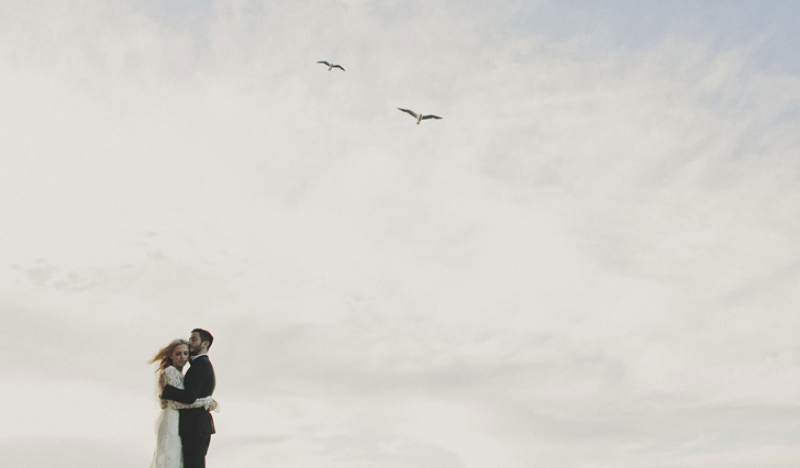
M 198 356 L 191 361 L 191 367 L 184 377 L 185 390 L 173 386 L 165 386 L 162 398 L 191 404 L 198 398 L 211 397 L 216 387 L 214 367 L 211 366 L 208 355 Z M 215 434 L 214 419 L 202 408 L 187 408 L 180 410 L 178 431 L 182 434 Z

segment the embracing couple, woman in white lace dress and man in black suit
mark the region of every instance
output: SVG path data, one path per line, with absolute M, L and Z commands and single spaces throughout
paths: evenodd
M 216 379 L 208 352 L 213 342 L 211 333 L 195 328 L 189 341 L 173 341 L 149 361 L 159 363 L 156 372 L 162 400 L 151 468 L 205 467 L 205 453 L 215 433 L 210 411 L 220 411 L 211 398 Z M 184 377 L 187 363 L 190 368 Z

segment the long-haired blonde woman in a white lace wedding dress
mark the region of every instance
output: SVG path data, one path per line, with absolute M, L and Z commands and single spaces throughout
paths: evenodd
M 165 386 L 184 388 L 182 369 L 189 360 L 189 342 L 174 339 L 163 347 L 148 364 L 159 363 L 158 393 L 162 394 Z M 184 468 L 184 454 L 181 452 L 180 435 L 178 435 L 178 410 L 186 408 L 204 408 L 207 411 L 219 412 L 216 401 L 211 397 L 195 400 L 192 404 L 184 404 L 173 400 L 162 400 L 162 412 L 156 420 L 156 452 L 153 455 L 151 468 Z

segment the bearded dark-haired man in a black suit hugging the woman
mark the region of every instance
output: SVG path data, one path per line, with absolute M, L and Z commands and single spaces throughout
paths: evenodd
M 184 378 L 185 390 L 165 386 L 162 398 L 191 404 L 198 398 L 211 397 L 216 379 L 214 368 L 209 360 L 208 352 L 214 337 L 205 330 L 195 328 L 189 337 L 189 357 L 191 368 Z M 180 442 L 184 445 L 184 467 L 204 468 L 205 454 L 211 443 L 211 434 L 215 434 L 214 420 L 203 408 L 180 410 L 178 423 Z

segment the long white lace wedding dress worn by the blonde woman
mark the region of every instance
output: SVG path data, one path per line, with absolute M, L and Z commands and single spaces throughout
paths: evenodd
M 184 389 L 184 375 L 173 366 L 158 374 L 158 395 L 165 386 Z M 173 400 L 162 400 L 162 412 L 156 419 L 156 452 L 151 468 L 184 468 L 180 435 L 178 434 L 178 410 L 184 408 L 215 406 L 211 397 L 201 398 L 192 404 L 184 404 Z

